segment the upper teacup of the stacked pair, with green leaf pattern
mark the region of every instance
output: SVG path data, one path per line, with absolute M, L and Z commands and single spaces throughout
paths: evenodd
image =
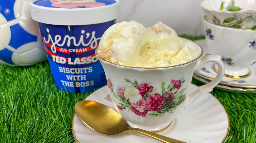
M 204 0 L 201 7 L 211 24 L 256 29 L 256 0 Z

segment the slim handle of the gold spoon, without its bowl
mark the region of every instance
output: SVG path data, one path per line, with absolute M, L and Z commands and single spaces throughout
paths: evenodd
M 173 138 L 170 138 L 170 137 L 167 137 L 167 136 L 163 136 L 163 135 L 159 135 L 159 134 L 156 134 L 156 133 L 152 133 L 152 132 L 149 132 L 149 131 L 145 131 L 145 130 L 142 130 L 142 129 L 139 129 L 139 128 L 129 128 L 129 130 L 127 130 L 128 132 L 135 132 L 135 133 L 139 133 L 141 135 L 146 135 L 148 137 L 151 137 L 151 138 L 154 138 L 160 142 L 163 142 L 163 143 L 186 143 L 186 142 L 183 142 L 183 141 L 180 141 L 180 140 L 177 140 L 177 139 L 173 139 Z

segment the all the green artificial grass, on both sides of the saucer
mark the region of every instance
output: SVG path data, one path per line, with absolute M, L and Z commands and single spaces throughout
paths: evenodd
M 181 35 L 191 40 L 204 36 Z M 193 79 L 192 83 L 203 83 Z M 218 89 L 211 92 L 230 119 L 227 143 L 256 143 L 256 95 Z M 88 94 L 58 89 L 47 61 L 30 67 L 0 64 L 0 142 L 74 143 L 75 103 Z

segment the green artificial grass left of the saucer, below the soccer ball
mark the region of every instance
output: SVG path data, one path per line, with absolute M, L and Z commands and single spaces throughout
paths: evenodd
M 57 89 L 47 61 L 0 65 L 0 86 L 0 142 L 74 142 L 74 105 L 88 94 Z

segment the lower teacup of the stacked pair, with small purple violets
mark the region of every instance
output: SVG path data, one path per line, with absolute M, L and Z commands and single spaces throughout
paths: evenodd
M 210 53 L 222 56 L 225 76 L 242 78 L 256 62 L 256 30 L 218 26 L 203 18 L 205 40 Z M 218 67 L 215 67 L 218 71 Z

